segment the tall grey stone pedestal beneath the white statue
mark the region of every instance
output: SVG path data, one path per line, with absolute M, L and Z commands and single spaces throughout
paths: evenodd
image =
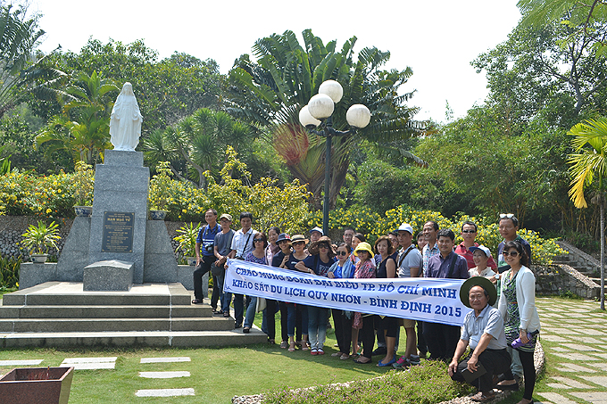
M 150 170 L 143 166 L 143 159 L 141 152 L 106 150 L 104 164 L 97 164 L 88 254 L 88 263 L 103 260 L 132 262 L 132 281 L 135 284 L 144 282 Z M 132 216 L 132 240 L 124 245 L 118 245 L 120 241 L 110 244 L 105 240 L 104 243 L 107 212 Z

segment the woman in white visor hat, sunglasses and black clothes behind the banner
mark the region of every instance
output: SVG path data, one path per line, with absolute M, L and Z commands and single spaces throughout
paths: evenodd
M 308 250 L 305 244 L 308 239 L 303 235 L 294 235 L 291 237 L 293 252 L 288 256 L 285 268 L 296 271 L 295 265 L 299 261 L 305 260 L 308 256 Z M 302 350 L 310 350 L 308 343 L 308 309 L 303 304 L 287 304 L 287 334 L 289 337 L 289 352 L 295 351 L 295 346 L 301 346 Z M 297 328 L 297 340 L 295 341 L 295 326 Z

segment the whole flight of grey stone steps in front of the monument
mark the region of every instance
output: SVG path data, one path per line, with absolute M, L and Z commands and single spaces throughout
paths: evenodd
M 195 347 L 267 340 L 256 328 L 251 334 L 235 330 L 234 318 L 213 316 L 210 305 L 192 304 L 192 298 L 181 284 L 141 284 L 129 292 L 39 284 L 0 300 L 0 347 Z

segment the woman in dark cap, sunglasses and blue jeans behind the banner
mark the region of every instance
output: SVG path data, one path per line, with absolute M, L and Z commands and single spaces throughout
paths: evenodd
M 331 239 L 323 235 L 318 241 L 310 243 L 308 251 L 312 254 L 303 261 L 297 262 L 295 268 L 312 275 L 327 276 L 328 269 L 335 263 L 335 252 Z M 308 306 L 308 337 L 312 355 L 324 355 L 327 339 L 328 309 L 319 306 Z

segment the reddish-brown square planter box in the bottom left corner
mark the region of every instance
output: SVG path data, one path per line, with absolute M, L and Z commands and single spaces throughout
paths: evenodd
M 67 404 L 73 367 L 21 367 L 0 377 L 0 402 Z

